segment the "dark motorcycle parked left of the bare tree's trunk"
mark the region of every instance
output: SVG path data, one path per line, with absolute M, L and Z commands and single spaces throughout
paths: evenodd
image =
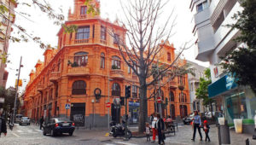
M 116 124 L 115 122 L 111 122 L 109 124 L 111 126 L 111 131 L 109 132 L 109 136 L 117 137 L 117 136 L 125 136 L 125 121 L 123 121 L 122 125 Z M 127 138 L 131 138 L 131 131 L 127 129 Z

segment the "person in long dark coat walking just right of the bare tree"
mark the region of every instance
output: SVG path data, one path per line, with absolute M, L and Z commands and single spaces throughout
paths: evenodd
M 158 132 L 158 144 L 165 144 L 165 122 L 163 119 L 160 118 L 160 113 L 157 113 L 157 122 L 156 122 L 156 128 Z

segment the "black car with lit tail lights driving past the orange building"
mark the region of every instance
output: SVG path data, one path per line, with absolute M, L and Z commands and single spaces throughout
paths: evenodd
M 74 130 L 75 125 L 70 119 L 52 118 L 44 124 L 43 135 L 50 134 L 50 136 L 55 136 L 57 134 L 68 133 L 69 136 L 72 136 Z

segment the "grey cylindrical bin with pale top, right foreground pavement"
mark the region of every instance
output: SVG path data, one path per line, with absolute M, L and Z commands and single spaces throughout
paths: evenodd
M 218 126 L 218 143 L 230 144 L 230 127 L 227 123 L 227 120 L 220 119 L 218 121 L 217 126 Z

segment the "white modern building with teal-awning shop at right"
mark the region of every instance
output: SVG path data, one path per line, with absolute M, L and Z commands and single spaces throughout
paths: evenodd
M 235 78 L 223 73 L 218 64 L 219 57 L 236 49 L 242 44 L 233 41 L 240 32 L 226 26 L 236 23 L 232 16 L 242 11 L 239 0 L 191 0 L 190 7 L 194 15 L 196 60 L 209 61 L 212 84 L 208 86 L 209 97 L 217 100 L 217 110 L 224 111 L 229 124 L 234 119 L 253 119 L 256 110 L 256 96 L 252 90 L 238 86 Z M 247 129 L 249 129 L 248 127 Z M 251 127 L 252 128 L 252 127 Z M 244 129 L 245 132 L 251 130 Z

